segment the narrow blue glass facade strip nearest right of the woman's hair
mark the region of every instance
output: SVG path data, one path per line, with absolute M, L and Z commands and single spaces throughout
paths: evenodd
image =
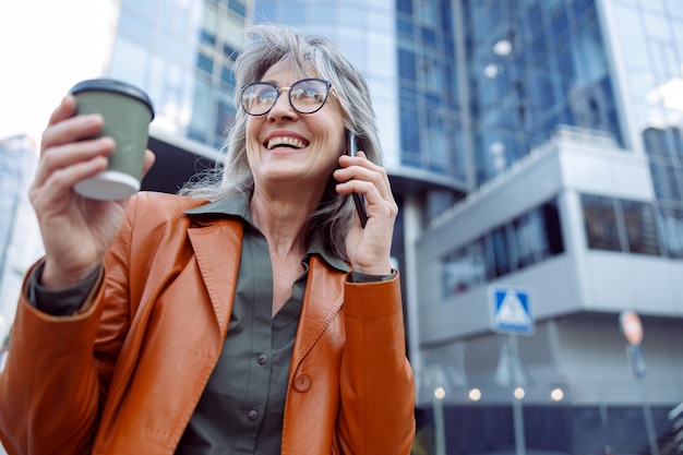
M 396 2 L 400 164 L 466 180 L 453 2 Z

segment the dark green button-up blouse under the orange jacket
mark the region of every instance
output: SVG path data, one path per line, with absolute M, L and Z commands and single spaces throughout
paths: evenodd
M 349 268 L 325 251 L 320 238 L 313 238 L 301 261 L 303 274 L 295 282 L 289 300 L 272 318 L 268 246 L 251 224 L 247 200 L 230 196 L 188 214 L 239 216 L 244 221 L 244 236 L 228 335 L 176 454 L 279 454 L 289 361 L 309 259 L 319 254 L 335 268 Z

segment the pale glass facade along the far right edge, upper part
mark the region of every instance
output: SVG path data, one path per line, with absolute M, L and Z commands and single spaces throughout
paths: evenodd
M 632 128 L 648 156 L 662 253 L 683 258 L 683 3 L 613 0 Z

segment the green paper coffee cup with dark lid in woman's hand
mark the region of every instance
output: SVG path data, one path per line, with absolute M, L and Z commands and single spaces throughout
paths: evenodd
M 140 191 L 144 154 L 154 108 L 140 88 L 121 81 L 96 79 L 74 85 L 76 113 L 99 113 L 105 123 L 100 134 L 116 141 L 107 169 L 79 182 L 74 190 L 86 197 L 116 201 Z

